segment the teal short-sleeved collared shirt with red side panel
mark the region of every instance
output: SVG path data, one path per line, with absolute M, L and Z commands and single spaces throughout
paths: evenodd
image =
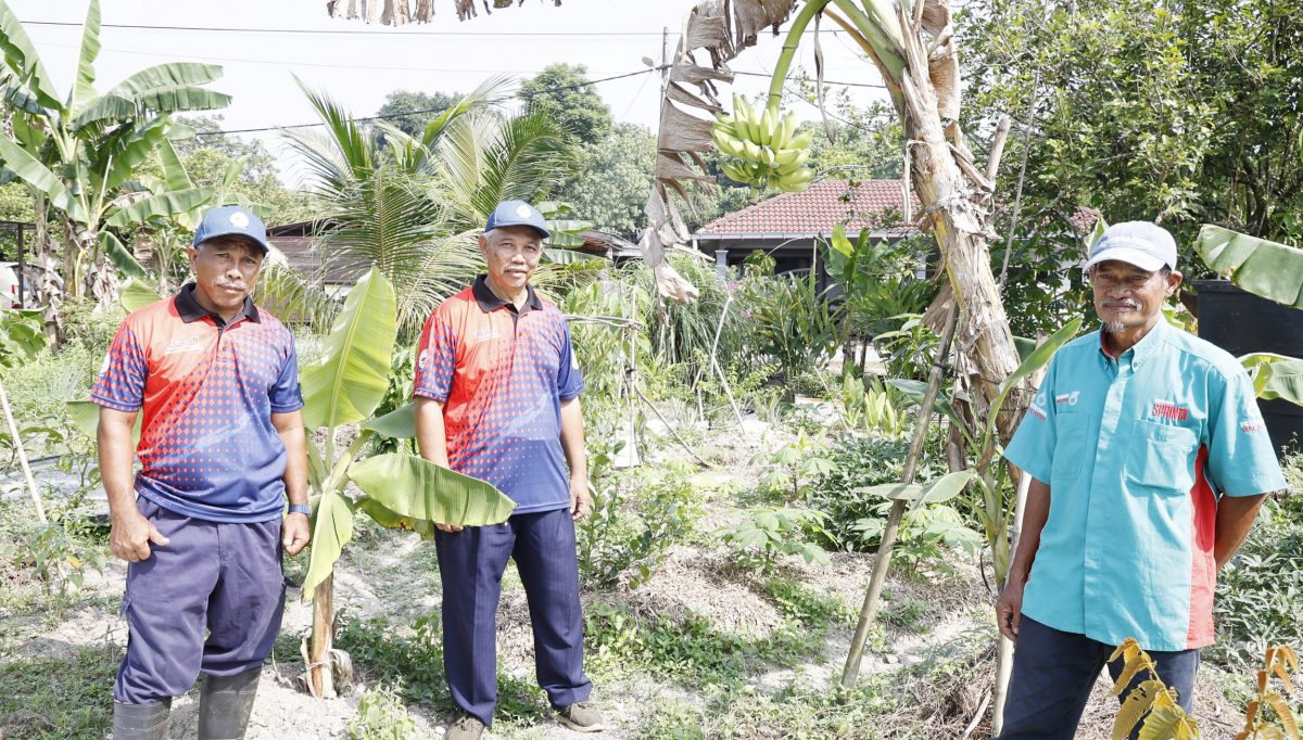
M 1285 487 L 1243 366 L 1165 320 L 1065 345 L 1005 455 L 1050 486 L 1023 614 L 1147 650 L 1213 642 L 1218 496 Z

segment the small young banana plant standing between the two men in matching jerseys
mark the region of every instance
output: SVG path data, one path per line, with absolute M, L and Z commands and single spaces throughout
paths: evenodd
M 313 541 L 304 580 L 311 599 L 309 688 L 334 696 L 334 670 L 347 657 L 332 649 L 334 569 L 353 535 L 358 511 L 382 526 L 433 537 L 434 522 L 482 526 L 511 516 L 515 503 L 491 485 L 409 453 L 367 455 L 377 436 L 414 436 L 410 408 L 373 418 L 388 388 L 397 336 L 394 287 L 373 268 L 353 287 L 324 340 L 321 360 L 301 371 L 304 427 L 324 431 L 308 446 Z M 354 426 L 356 425 L 356 426 Z M 344 449 L 336 439 L 356 430 Z M 353 490 L 358 491 L 354 494 Z

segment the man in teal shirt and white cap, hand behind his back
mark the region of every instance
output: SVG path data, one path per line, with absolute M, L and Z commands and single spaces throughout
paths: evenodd
M 1085 267 L 1102 327 L 1058 352 L 1006 451 L 1032 485 L 995 602 L 1018 644 L 1002 740 L 1071 739 L 1127 637 L 1188 711 L 1217 569 L 1285 489 L 1244 369 L 1162 317 L 1175 267 L 1165 229 L 1105 231 Z

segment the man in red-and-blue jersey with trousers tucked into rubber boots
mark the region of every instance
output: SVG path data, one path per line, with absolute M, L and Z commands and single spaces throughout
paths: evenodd
M 116 740 L 167 737 L 172 697 L 201 674 L 199 737 L 244 737 L 280 629 L 280 548 L 309 538 L 293 336 L 249 297 L 263 224 L 212 208 L 188 251 L 194 283 L 122 322 L 91 391 L 109 548 L 129 563 Z

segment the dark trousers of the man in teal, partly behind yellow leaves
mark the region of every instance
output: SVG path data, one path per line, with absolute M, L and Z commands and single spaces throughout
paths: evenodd
M 1143 645 L 1141 645 L 1143 648 Z M 1106 645 L 1075 632 L 1062 632 L 1023 615 L 1014 649 L 1014 675 L 1005 700 L 1005 730 L 999 740 L 1072 740 L 1091 688 L 1117 645 Z M 1158 679 L 1177 689 L 1178 702 L 1190 711 L 1199 671 L 1199 650 L 1162 653 L 1145 650 L 1158 666 Z M 1108 663 L 1117 681 L 1122 661 Z M 1152 679 L 1141 671 L 1122 692 L 1126 700 L 1140 681 Z M 1139 735 L 1140 727 L 1131 732 Z

